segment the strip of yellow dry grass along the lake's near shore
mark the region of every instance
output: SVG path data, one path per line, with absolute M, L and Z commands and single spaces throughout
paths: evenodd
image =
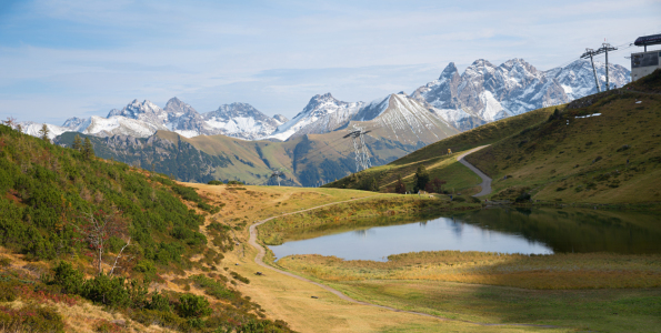
M 428 280 L 554 290 L 661 286 L 658 254 L 434 251 L 391 255 L 387 262 L 310 254 L 283 258 L 278 265 L 323 281 Z

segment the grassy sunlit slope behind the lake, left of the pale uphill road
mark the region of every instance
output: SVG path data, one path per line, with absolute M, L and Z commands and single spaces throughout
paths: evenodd
M 413 174 L 420 165 L 424 165 L 430 178 L 447 181 L 444 189 L 463 191 L 464 193 L 478 192 L 474 189 L 481 180 L 468 168 L 457 161 L 457 155 L 465 150 L 491 144 L 520 132 L 527 128 L 545 121 L 552 114 L 553 108 L 545 108 L 505 118 L 491 122 L 463 133 L 440 140 L 404 155 L 387 165 L 374 167 L 327 184 L 330 188 L 372 190 L 375 182 L 380 191 L 392 191 L 399 176 L 407 185 L 408 191 L 413 190 Z M 452 154 L 448 154 L 448 149 Z

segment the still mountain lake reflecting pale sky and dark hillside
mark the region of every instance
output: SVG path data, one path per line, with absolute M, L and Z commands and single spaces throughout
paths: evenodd
M 440 250 L 661 253 L 661 219 L 657 212 L 500 208 L 348 232 L 330 230 L 327 235 L 269 248 L 276 258 L 321 254 L 375 261 Z

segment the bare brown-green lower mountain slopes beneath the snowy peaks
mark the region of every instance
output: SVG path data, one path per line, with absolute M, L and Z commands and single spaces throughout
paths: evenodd
M 244 141 L 224 135 L 184 138 L 159 131 L 147 139 L 130 137 L 87 137 L 99 157 L 113 159 L 144 170 L 172 175 L 177 180 L 207 183 L 237 180 L 248 184 L 277 184 L 273 170 L 283 170 L 283 185 L 314 186 L 355 171 L 351 139 L 345 131 L 309 134 L 284 142 Z M 58 144 L 71 147 L 79 133 L 68 132 Z M 443 133 L 439 135 L 444 137 Z M 374 165 L 385 164 L 429 142 L 402 144 L 392 141 L 387 129 L 365 138 Z M 429 139 L 431 140 L 431 139 Z

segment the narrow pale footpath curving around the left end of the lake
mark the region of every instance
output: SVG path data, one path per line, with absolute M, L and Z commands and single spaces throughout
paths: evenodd
M 475 151 L 475 150 L 479 150 L 479 149 L 482 149 L 482 148 L 484 148 L 484 147 L 481 147 L 481 148 L 474 149 L 474 150 L 472 150 L 472 151 Z M 472 151 L 469 151 L 468 153 L 470 153 L 470 152 L 472 152 Z M 465 153 L 465 154 L 468 154 L 468 153 Z M 461 158 L 463 158 L 465 154 L 462 154 L 462 155 L 461 155 Z M 457 158 L 457 159 L 459 160 L 459 158 Z M 469 165 L 470 165 L 470 164 L 468 164 L 467 167 L 469 167 Z M 470 167 L 472 167 L 472 165 L 470 165 Z M 469 167 L 469 168 L 470 168 L 470 167 Z M 473 167 L 473 168 L 474 168 L 474 167 Z M 471 170 L 472 170 L 472 169 L 471 169 Z M 477 170 L 477 169 L 475 169 L 475 170 Z M 479 171 L 479 170 L 478 170 L 478 171 Z M 482 173 L 482 174 L 483 174 L 483 173 Z M 489 181 L 491 181 L 491 179 L 489 179 Z M 489 183 L 491 183 L 491 182 L 489 182 Z M 491 188 L 489 188 L 489 190 L 491 190 Z M 482 191 L 483 191 L 483 190 L 482 190 Z M 560 327 L 561 327 L 561 326 L 552 326 L 552 325 L 534 325 L 534 324 L 490 324 L 490 323 L 479 323 L 479 322 L 471 322 L 471 321 L 454 320 L 454 319 L 448 319 L 448 317 L 442 317 L 442 316 L 438 316 L 438 315 L 431 315 L 431 314 L 428 314 L 428 313 L 422 313 L 422 312 L 415 312 L 415 311 L 405 311 L 405 310 L 399 310 L 399 309 L 395 309 L 395 307 L 390 307 L 390 306 L 384 306 L 384 305 L 372 304 L 372 303 L 368 303 L 368 302 L 362 302 L 362 301 L 354 300 L 354 299 L 352 299 L 352 297 L 349 297 L 348 295 L 345 295 L 345 294 L 341 293 L 340 291 L 338 291 L 338 290 L 335 290 L 335 289 L 332 289 L 332 287 L 330 287 L 330 286 L 328 286 L 328 285 L 321 284 L 321 283 L 319 283 L 319 282 L 314 282 L 314 281 L 312 281 L 312 280 L 310 280 L 310 279 L 306 279 L 306 278 L 303 278 L 303 276 L 299 276 L 299 275 L 297 275 L 297 274 L 293 274 L 293 273 L 290 273 L 290 272 L 286 272 L 286 271 L 279 270 L 279 269 L 277 269 L 277 268 L 273 268 L 273 266 L 271 266 L 271 265 L 269 265 L 269 264 L 267 264 L 267 263 L 264 263 L 264 262 L 263 262 L 263 259 L 264 259 L 264 255 L 267 254 L 267 251 L 264 250 L 264 248 L 263 248 L 263 246 L 261 246 L 260 244 L 258 244 L 258 243 L 257 243 L 257 228 L 258 228 L 259 225 L 261 225 L 261 224 L 264 224 L 264 223 L 267 223 L 267 222 L 269 222 L 269 221 L 271 221 L 271 220 L 273 220 L 273 219 L 277 219 L 277 218 L 282 218 L 282 216 L 287 216 L 287 215 L 293 215 L 293 214 L 303 213 L 303 212 L 308 212 L 308 211 L 317 210 L 317 209 L 324 208 L 324 206 L 329 206 L 329 205 L 334 205 L 334 204 L 340 204 L 340 203 L 345 203 L 345 202 L 351 202 L 351 201 L 357 201 L 357 200 L 363 200 L 363 199 L 368 199 L 368 198 L 374 198 L 374 196 L 375 196 L 375 195 L 372 195 L 372 196 L 364 196 L 364 198 L 358 198 L 358 199 L 352 199 L 352 200 L 347 200 L 347 201 L 339 201 L 339 202 L 327 203 L 327 204 L 322 204 L 322 205 L 313 206 L 313 208 L 310 208 L 310 209 L 307 209 L 307 210 L 301 210 L 301 211 L 296 211 L 296 212 L 291 212 L 291 213 L 286 213 L 286 214 L 281 214 L 281 215 L 277 215 L 277 216 L 271 216 L 271 218 L 269 218 L 269 219 L 261 220 L 261 221 L 259 221 L 259 222 L 257 222 L 257 223 L 254 223 L 254 224 L 250 225 L 250 239 L 248 240 L 248 242 L 250 243 L 250 245 L 252 245 L 252 248 L 257 249 L 257 251 L 258 251 L 257 255 L 254 256 L 254 262 L 256 262 L 258 265 L 260 265 L 260 266 L 262 266 L 262 268 L 264 268 L 264 269 L 268 269 L 268 270 L 271 270 L 271 271 L 278 272 L 278 273 L 280 273 L 280 274 L 284 274 L 284 275 L 287 275 L 287 276 L 290 276 L 290 278 L 293 278 L 293 279 L 298 279 L 298 280 L 300 280 L 300 281 L 304 281 L 304 282 L 308 282 L 308 283 L 314 284 L 314 285 L 317 285 L 317 286 L 319 286 L 319 287 L 321 287 L 321 289 L 323 289 L 323 290 L 326 290 L 326 291 L 329 291 L 329 292 L 331 292 L 331 293 L 335 294 L 338 297 L 340 297 L 340 299 L 342 299 L 342 300 L 344 300 L 344 301 L 348 301 L 348 302 L 351 302 L 351 303 L 355 303 L 355 304 L 360 304 L 360 305 L 365 305 L 365 306 L 374 306 L 374 307 L 380 307 L 380 309 L 384 309 L 384 310 L 389 310 L 389 311 L 393 311 L 393 312 L 410 313 L 410 314 L 415 314 L 415 315 L 422 315 L 422 316 L 428 316 L 428 317 L 434 317 L 434 319 L 442 320 L 442 321 L 463 322 L 463 323 L 475 324 L 475 325 L 482 325 L 482 326 L 529 326 L 529 327 L 544 327 L 544 329 L 560 329 Z

